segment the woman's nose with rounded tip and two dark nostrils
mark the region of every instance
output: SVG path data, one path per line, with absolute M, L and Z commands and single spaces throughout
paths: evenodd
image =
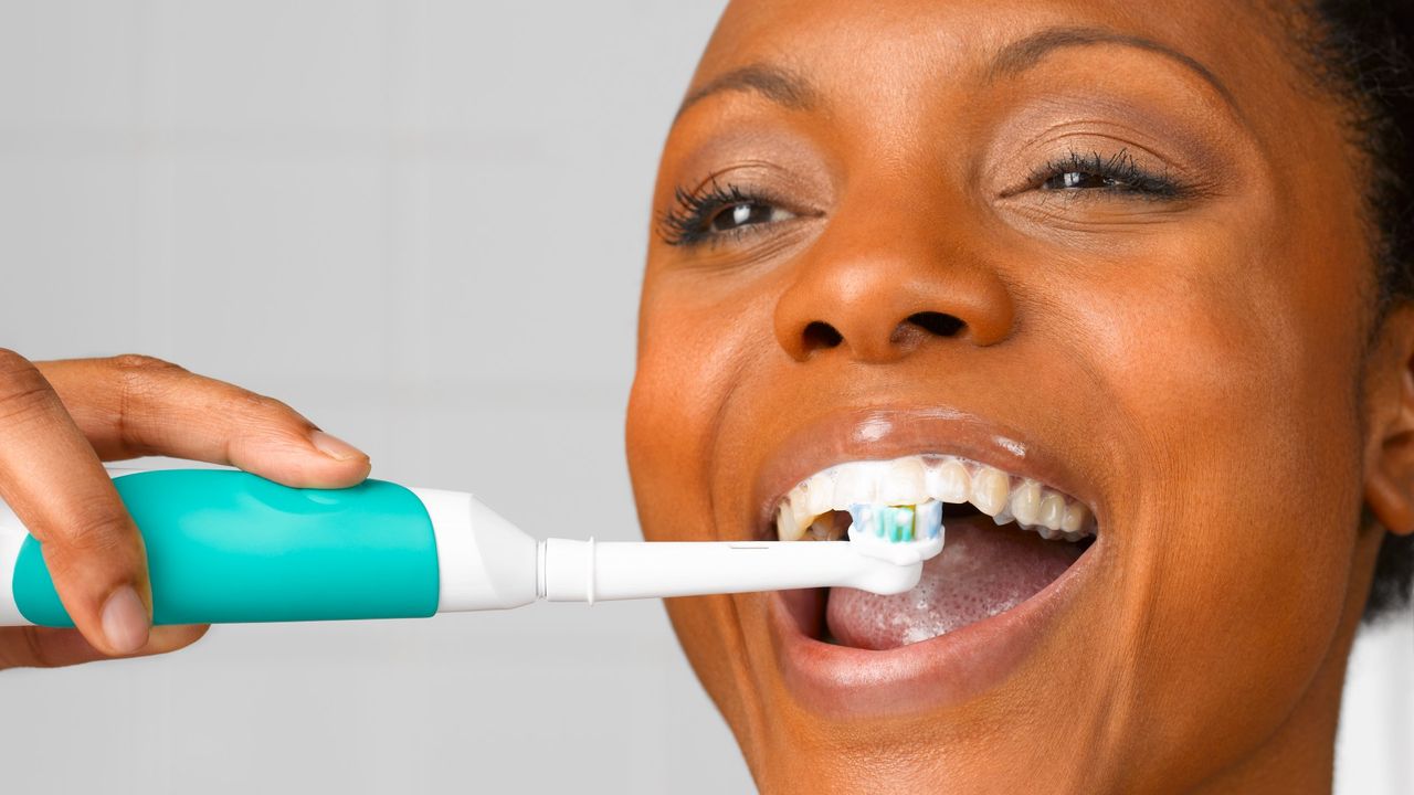
M 858 361 L 888 362 L 930 341 L 986 347 L 1011 334 L 1010 290 L 956 240 L 829 236 L 797 260 L 776 304 L 776 340 L 793 359 L 843 349 Z

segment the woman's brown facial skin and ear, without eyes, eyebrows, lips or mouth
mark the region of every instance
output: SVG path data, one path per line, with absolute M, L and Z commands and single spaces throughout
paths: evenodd
M 1384 529 L 1414 530 L 1414 313 L 1377 330 L 1363 170 L 1254 4 L 756 0 L 689 95 L 747 65 L 810 85 L 693 103 L 655 215 L 715 178 L 790 215 L 696 248 L 655 233 L 628 453 L 645 535 L 756 532 L 793 429 L 940 406 L 1068 460 L 1096 576 L 1019 668 L 925 714 L 797 703 L 766 597 L 674 600 L 699 676 L 768 792 L 1328 792 L 1345 663 Z M 994 72 L 1052 25 L 1144 37 Z M 781 98 L 781 92 L 776 92 Z M 1069 149 L 1193 190 L 1045 191 Z M 911 324 L 953 315 L 953 334 Z M 839 332 L 830 345 L 816 332 Z

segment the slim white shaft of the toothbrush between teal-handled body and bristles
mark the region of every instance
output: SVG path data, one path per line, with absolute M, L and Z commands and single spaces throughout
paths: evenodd
M 841 586 L 880 594 L 918 584 L 922 564 L 860 555 L 848 542 L 605 542 L 540 545 L 550 601 L 658 598 Z

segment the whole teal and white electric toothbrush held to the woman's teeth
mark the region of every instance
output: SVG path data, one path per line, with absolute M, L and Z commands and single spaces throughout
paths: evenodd
M 918 584 L 942 506 L 860 505 L 850 543 L 536 540 L 471 494 L 368 480 L 304 489 L 236 470 L 109 470 L 147 547 L 154 624 L 421 618 Z M 0 625 L 72 627 L 40 543 L 0 502 Z

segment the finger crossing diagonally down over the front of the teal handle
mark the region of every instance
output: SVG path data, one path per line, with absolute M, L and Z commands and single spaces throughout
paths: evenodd
M 143 539 L 93 448 L 24 356 L 0 349 L 0 498 L 42 545 L 59 600 L 105 654 L 148 639 Z

